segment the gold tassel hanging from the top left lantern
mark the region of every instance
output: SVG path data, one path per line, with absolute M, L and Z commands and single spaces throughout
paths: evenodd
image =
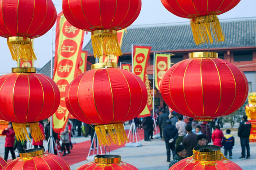
M 7 44 L 12 56 L 12 59 L 18 61 L 19 59 L 28 59 L 30 61 L 37 60 L 33 51 L 31 39 L 27 37 L 13 36 L 8 37 Z

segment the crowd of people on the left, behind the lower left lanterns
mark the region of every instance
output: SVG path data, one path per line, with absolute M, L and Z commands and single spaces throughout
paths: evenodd
M 44 121 L 39 121 L 39 127 L 41 129 L 41 132 L 45 134 L 45 138 L 43 140 L 48 141 L 50 138 L 50 118 L 47 119 L 47 123 L 44 126 Z M 74 126 L 73 126 L 74 125 Z M 70 154 L 70 150 L 73 148 L 73 144 L 71 142 L 71 136 L 74 134 L 72 131 L 74 131 L 75 127 L 77 126 L 77 132 L 78 136 L 82 136 L 82 122 L 74 119 L 73 121 L 70 119 L 67 122 L 67 125 L 64 129 L 64 131 L 60 131 L 59 133 L 55 133 L 52 131 L 52 137 L 55 141 L 55 150 L 54 153 L 57 154 L 57 151 L 60 153 L 63 153 L 62 156 L 65 156 L 66 154 Z M 94 133 L 94 132 L 93 132 Z M 27 149 L 27 141 L 26 140 L 18 140 L 15 132 L 12 127 L 12 123 L 9 122 L 8 127 L 5 128 L 2 131 L 2 135 L 6 136 L 5 138 L 5 150 L 4 150 L 4 160 L 7 161 L 9 152 L 11 153 L 12 159 L 15 159 L 16 155 L 15 151 L 17 150 L 18 153 L 24 151 Z M 90 135 L 90 133 L 89 133 Z M 92 134 L 91 136 L 93 136 Z M 29 133 L 29 137 L 32 138 L 31 134 Z M 43 140 L 35 141 L 34 138 L 32 138 L 32 145 L 34 148 L 44 148 Z M 32 149 L 32 148 L 31 148 Z

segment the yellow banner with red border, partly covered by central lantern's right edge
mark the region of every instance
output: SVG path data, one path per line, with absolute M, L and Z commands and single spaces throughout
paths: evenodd
M 150 93 L 150 82 L 146 74 L 146 67 L 148 64 L 151 47 L 148 46 L 133 46 L 133 72 L 139 76 L 146 85 L 147 89 L 147 103 L 145 109 L 141 112 L 138 118 L 151 116 L 150 110 L 152 108 L 152 97 Z

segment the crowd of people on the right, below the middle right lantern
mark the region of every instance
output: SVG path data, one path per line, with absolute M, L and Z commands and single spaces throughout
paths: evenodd
M 210 122 L 198 122 L 175 111 L 169 113 L 169 110 L 156 108 L 155 119 L 160 129 L 160 137 L 162 141 L 165 141 L 167 161 L 170 162 L 169 167 L 185 157 L 192 156 L 194 147 L 211 142 L 213 145 L 223 147 L 224 156 L 228 157 L 229 154 L 229 159 L 232 159 L 235 138 L 231 135 L 230 129 L 226 130 L 225 135 L 223 134 L 220 129 L 223 127 L 222 118 L 213 119 Z M 238 127 L 242 150 L 239 158 L 250 159 L 249 136 L 251 124 L 247 121 L 246 115 L 242 117 L 242 120 Z M 171 155 L 173 161 L 171 161 Z

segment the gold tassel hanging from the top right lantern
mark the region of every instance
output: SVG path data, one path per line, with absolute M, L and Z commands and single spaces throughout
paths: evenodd
M 211 34 L 214 35 L 216 42 L 225 41 L 217 15 L 193 17 L 190 19 L 190 26 L 197 45 L 205 42 L 208 43 L 209 41 L 212 43 L 213 37 Z

